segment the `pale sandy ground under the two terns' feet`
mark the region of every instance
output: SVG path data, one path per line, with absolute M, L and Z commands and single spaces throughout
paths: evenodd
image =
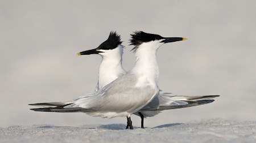
M 67 127 L 31 125 L 0 128 L 0 142 L 256 142 L 256 122 L 211 119 L 154 128 L 125 124 Z

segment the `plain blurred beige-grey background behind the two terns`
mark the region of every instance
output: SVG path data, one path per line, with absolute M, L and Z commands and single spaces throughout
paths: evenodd
M 256 120 L 255 1 L 0 1 L 0 127 L 126 124 L 82 113 L 35 112 L 28 103 L 70 101 L 94 91 L 110 31 L 121 34 L 130 70 L 133 31 L 186 37 L 158 50 L 159 87 L 183 96 L 221 95 L 208 105 L 163 111 L 145 127 L 223 118 Z M 131 116 L 140 126 L 138 116 Z

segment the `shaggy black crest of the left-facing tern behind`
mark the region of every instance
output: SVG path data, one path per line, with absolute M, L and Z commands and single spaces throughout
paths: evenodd
M 109 38 L 104 41 L 100 46 L 98 46 L 97 50 L 112 50 L 115 49 L 118 45 L 121 45 L 121 36 L 117 34 L 117 32 L 111 31 L 109 34 Z

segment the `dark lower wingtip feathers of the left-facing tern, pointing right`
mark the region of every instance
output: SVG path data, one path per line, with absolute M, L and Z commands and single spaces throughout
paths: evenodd
M 186 108 L 186 107 L 204 105 L 204 104 L 212 103 L 213 101 L 214 101 L 214 99 L 205 99 L 205 100 L 201 100 L 201 101 L 185 101 L 185 102 L 188 102 L 187 105 L 159 106 L 159 108 L 156 110 L 181 109 L 181 108 Z

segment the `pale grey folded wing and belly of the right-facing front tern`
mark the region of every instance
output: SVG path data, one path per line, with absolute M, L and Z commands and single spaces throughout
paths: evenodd
M 135 112 L 145 106 L 158 91 L 151 86 L 137 88 L 136 75 L 124 75 L 96 92 L 96 96 L 79 98 L 69 107 L 94 109 L 99 112 Z M 151 97 L 148 95 L 152 95 Z

